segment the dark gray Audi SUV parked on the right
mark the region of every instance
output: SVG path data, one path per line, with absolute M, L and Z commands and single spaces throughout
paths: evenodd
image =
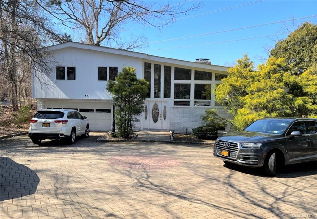
M 317 160 L 317 119 L 266 118 L 217 138 L 213 154 L 225 164 L 263 167 L 275 176 L 276 167 Z

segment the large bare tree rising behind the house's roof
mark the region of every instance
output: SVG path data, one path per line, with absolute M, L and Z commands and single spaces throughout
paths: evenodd
M 144 36 L 121 37 L 125 25 L 139 23 L 161 29 L 174 22 L 175 17 L 201 7 L 200 2 L 190 6 L 151 3 L 138 0 L 36 0 L 56 23 L 75 31 L 84 30 L 86 43 L 113 45 L 121 49 L 142 47 Z

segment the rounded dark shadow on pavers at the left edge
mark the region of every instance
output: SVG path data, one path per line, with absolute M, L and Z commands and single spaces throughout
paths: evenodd
M 40 178 L 29 167 L 0 157 L 0 201 L 29 196 L 36 192 Z

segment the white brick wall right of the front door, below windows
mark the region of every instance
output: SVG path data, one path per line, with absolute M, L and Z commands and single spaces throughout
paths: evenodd
M 189 129 L 192 132 L 193 128 L 204 124 L 200 116 L 204 115 L 205 111 L 206 108 L 170 108 L 170 130 L 174 130 L 175 133 L 185 133 L 186 129 Z M 227 110 L 221 108 L 217 109 L 217 114 L 225 119 L 232 118 Z

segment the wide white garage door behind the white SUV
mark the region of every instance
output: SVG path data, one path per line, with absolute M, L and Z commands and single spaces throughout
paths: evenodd
M 111 103 L 45 101 L 45 108 L 74 109 L 86 116 L 92 131 L 109 131 L 112 128 Z

